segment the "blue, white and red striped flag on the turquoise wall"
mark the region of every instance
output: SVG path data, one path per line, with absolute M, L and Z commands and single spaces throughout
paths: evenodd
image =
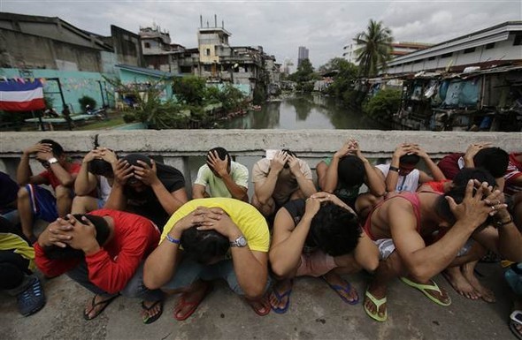
M 0 81 L 0 110 L 30 111 L 45 109 L 43 87 L 39 79 L 19 82 Z

